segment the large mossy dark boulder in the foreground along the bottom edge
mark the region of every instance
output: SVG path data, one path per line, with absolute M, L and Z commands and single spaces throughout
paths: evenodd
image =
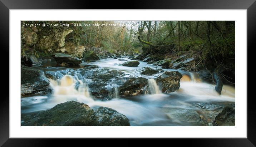
M 96 111 L 84 103 L 69 101 L 40 112 L 23 126 L 130 126 L 123 114 L 99 107 Z

